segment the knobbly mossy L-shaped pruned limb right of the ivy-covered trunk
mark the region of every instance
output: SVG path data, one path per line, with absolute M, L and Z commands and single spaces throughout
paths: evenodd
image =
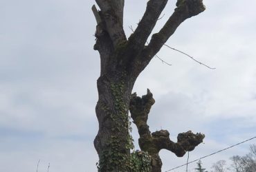
M 170 140 L 170 133 L 167 130 L 161 129 L 151 133 L 147 125 L 149 111 L 154 105 L 155 100 L 153 94 L 147 89 L 147 94 L 140 98 L 136 93 L 131 94 L 129 110 L 131 118 L 138 129 L 140 135 L 139 145 L 142 151 L 147 151 L 152 156 L 153 171 L 161 171 L 161 159 L 158 155 L 161 149 L 172 151 L 178 157 L 185 155 L 187 151 L 192 151 L 194 148 L 203 142 L 205 137 L 202 133 L 192 133 L 187 131 L 179 133 L 177 142 Z

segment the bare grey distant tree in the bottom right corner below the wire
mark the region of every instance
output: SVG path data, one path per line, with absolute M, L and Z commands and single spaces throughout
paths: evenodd
M 232 156 L 230 160 L 232 160 L 232 167 L 236 172 L 256 171 L 256 144 L 250 145 L 250 153 L 244 156 Z

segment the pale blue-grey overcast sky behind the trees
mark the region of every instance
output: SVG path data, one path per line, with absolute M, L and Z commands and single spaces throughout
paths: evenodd
M 92 0 L 0 1 L 0 171 L 96 171 L 93 139 L 100 58 L 93 50 Z M 125 3 L 124 29 L 143 16 L 147 1 Z M 180 25 L 167 44 L 216 67 L 208 69 L 163 47 L 139 76 L 134 92 L 156 100 L 151 131 L 205 133 L 190 160 L 256 136 L 255 0 L 204 0 L 206 10 Z M 170 1 L 157 32 L 174 11 Z M 163 15 L 162 14 L 162 15 Z M 134 126 L 133 126 L 134 127 Z M 136 127 L 133 130 L 138 139 Z M 246 142 L 202 160 L 248 153 Z M 138 149 L 138 144 L 136 144 Z M 163 171 L 184 164 L 161 151 Z M 189 165 L 192 171 L 194 164 Z M 185 167 L 176 171 L 185 171 Z

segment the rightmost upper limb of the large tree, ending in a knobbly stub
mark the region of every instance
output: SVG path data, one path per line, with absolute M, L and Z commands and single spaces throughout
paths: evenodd
M 178 0 L 172 16 L 158 33 L 152 35 L 149 45 L 142 52 L 143 61 L 147 61 L 145 65 L 156 55 L 185 19 L 193 17 L 204 10 L 203 0 Z

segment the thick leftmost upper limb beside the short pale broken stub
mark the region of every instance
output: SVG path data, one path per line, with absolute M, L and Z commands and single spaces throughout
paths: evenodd
M 125 31 L 122 28 L 124 0 L 95 0 L 100 7 L 102 20 L 106 25 L 107 32 L 113 41 L 118 45 L 126 41 Z

